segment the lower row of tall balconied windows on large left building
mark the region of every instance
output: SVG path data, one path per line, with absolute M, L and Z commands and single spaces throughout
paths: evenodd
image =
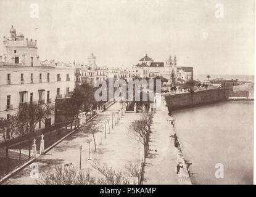
M 69 94 L 69 87 L 66 88 L 66 94 Z M 45 97 L 45 90 L 38 90 L 38 102 L 44 103 L 44 97 Z M 22 103 L 27 103 L 27 96 L 28 96 L 28 92 L 27 91 L 23 91 L 20 92 L 20 104 Z M 30 93 L 30 102 L 33 102 L 34 99 L 34 93 L 31 92 Z M 57 88 L 57 97 L 60 97 L 60 88 Z M 50 98 L 50 91 L 47 91 L 47 103 L 51 102 L 51 98 Z M 11 105 L 11 96 L 7 95 L 7 102 L 6 102 L 6 110 L 11 110 L 12 109 L 12 105 Z

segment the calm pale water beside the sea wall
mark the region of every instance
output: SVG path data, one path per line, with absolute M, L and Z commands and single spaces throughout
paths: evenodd
M 252 184 L 254 102 L 224 102 L 173 111 L 175 129 L 195 184 Z M 224 178 L 215 177 L 215 164 Z

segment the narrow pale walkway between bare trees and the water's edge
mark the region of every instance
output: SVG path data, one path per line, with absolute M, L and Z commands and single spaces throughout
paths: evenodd
M 162 107 L 161 107 L 162 109 Z M 173 128 L 168 126 L 168 111 L 157 110 L 154 114 L 149 158 L 146 158 L 144 185 L 180 184 L 176 174 L 176 148 L 170 135 Z

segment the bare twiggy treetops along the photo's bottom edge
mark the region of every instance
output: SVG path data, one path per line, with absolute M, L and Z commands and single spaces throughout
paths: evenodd
M 91 165 L 97 172 L 98 177 L 94 177 L 89 171 L 82 172 L 73 164 L 54 164 L 49 171 L 43 171 L 40 179 L 37 180 L 41 185 L 128 185 L 131 180 L 127 177 L 139 177 L 140 168 L 138 164 L 128 163 L 125 171 L 115 171 L 107 164 L 99 164 L 94 161 Z

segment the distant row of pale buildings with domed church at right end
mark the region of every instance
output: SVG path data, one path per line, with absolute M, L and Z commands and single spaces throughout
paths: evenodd
M 177 66 L 176 56 L 171 56 L 165 62 L 154 62 L 149 56 L 139 60 L 135 66 L 120 68 L 99 68 L 96 57 L 91 54 L 86 65 L 76 65 L 76 83 L 87 82 L 94 84 L 97 79 L 106 79 L 109 76 L 115 79 L 134 79 L 134 78 L 155 78 L 163 77 L 168 79 L 167 84 L 181 84 L 193 80 L 193 67 Z

